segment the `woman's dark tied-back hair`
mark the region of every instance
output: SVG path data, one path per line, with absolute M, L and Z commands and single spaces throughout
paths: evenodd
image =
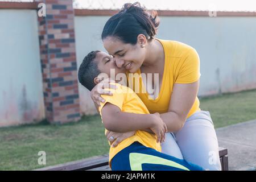
M 106 22 L 101 39 L 114 36 L 124 43 L 135 45 L 137 36 L 143 34 L 151 41 L 156 35 L 159 23 L 156 11 L 147 11 L 139 2 L 126 3 L 119 13 Z

